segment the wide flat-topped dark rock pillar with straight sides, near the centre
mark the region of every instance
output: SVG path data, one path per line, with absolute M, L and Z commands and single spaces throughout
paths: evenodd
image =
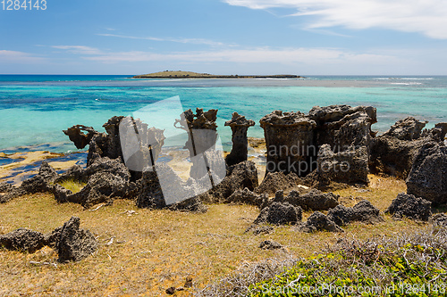
M 309 165 L 316 155 L 315 120 L 299 111 L 273 111 L 259 123 L 266 138 L 266 174 L 282 171 L 304 177 L 312 171 Z

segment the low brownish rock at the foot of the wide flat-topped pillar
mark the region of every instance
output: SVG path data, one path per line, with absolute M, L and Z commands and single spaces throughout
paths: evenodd
M 268 172 L 261 185 L 255 189 L 258 194 L 275 194 L 276 191 L 288 191 L 296 188 L 301 183 L 301 179 L 293 172 L 285 175 L 280 172 Z

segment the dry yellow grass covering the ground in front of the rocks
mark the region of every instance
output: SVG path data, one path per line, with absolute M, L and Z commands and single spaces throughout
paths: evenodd
M 390 177 L 371 176 L 370 192 L 349 188 L 342 196 L 363 196 L 384 210 L 405 184 Z M 380 180 L 379 180 L 380 179 Z M 343 199 L 346 205 L 355 199 Z M 350 206 L 350 205 L 348 205 Z M 94 209 L 94 208 L 93 208 Z M 130 214 L 134 210 L 137 214 Z M 303 234 L 294 227 L 276 227 L 271 235 L 244 234 L 259 210 L 248 205 L 210 205 L 205 214 L 170 210 L 139 210 L 133 202 L 119 200 L 96 211 L 72 203 L 58 204 L 50 194 L 35 194 L 0 204 L 0 233 L 18 227 L 48 233 L 71 216 L 97 236 L 98 251 L 79 263 L 33 265 L 30 261 L 55 263 L 56 254 L 44 248 L 34 254 L 0 250 L 0 296 L 164 296 L 170 286 L 184 285 L 187 276 L 197 287 L 231 273 L 244 261 L 254 262 L 290 253 L 307 257 L 320 252 L 340 236 L 366 239 L 419 228 L 409 220 L 375 225 L 355 223 L 344 234 Z M 310 212 L 304 214 L 304 219 Z M 107 245 L 114 237 L 114 243 Z M 284 251 L 264 251 L 266 239 L 282 243 Z M 188 296 L 192 289 L 176 293 Z

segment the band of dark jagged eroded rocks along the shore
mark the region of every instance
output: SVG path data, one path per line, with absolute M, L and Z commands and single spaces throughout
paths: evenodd
M 345 186 L 364 188 L 370 172 L 406 180 L 407 194 L 399 194 L 386 210 L 396 219 L 427 221 L 432 205 L 447 202 L 447 123 L 424 129 L 426 122 L 408 117 L 377 136 L 371 129 L 376 122 L 372 106 L 314 107 L 307 114 L 273 111 L 259 120 L 266 139 L 266 173 L 259 178 L 248 153 L 249 144 L 263 152 L 262 142 L 247 137 L 254 120 L 234 112 L 225 123 L 232 128 L 233 147 L 223 159 L 222 152 L 214 149 L 217 112 L 184 111 L 183 120 L 175 123 L 189 133 L 184 147 L 190 159 L 187 176 L 156 162 L 164 130 L 148 128 L 139 119 L 114 117 L 103 126 L 105 133 L 82 125 L 63 131 L 76 147 L 89 145 L 85 168 L 74 165 L 59 174 L 43 161 L 38 174 L 21 186 L 0 184 L 0 202 L 48 192 L 56 202 L 79 203 L 85 209 L 110 205 L 115 199 L 129 199 L 139 208 L 198 213 L 206 212 L 210 203 L 246 203 L 259 209 L 246 232 L 264 232 L 265 224 L 286 224 L 308 233 L 343 232 L 351 221 L 383 221 L 371 202 L 363 200 L 348 208 L 340 196 L 327 192 Z M 134 134 L 138 137 L 132 138 Z M 64 180 L 85 186 L 73 193 L 61 186 Z M 305 210 L 314 213 L 303 222 Z

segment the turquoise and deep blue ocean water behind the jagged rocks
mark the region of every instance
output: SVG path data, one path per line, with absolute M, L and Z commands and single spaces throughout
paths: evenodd
M 76 124 L 104 131 L 115 115 L 131 115 L 151 103 L 180 96 L 183 108 L 218 109 L 218 132 L 237 111 L 257 125 L 274 110 L 308 112 L 313 106 L 372 105 L 387 130 L 396 120 L 414 116 L 426 128 L 447 122 L 447 77 L 308 77 L 300 79 L 133 79 L 131 76 L 0 75 L 0 152 L 46 150 L 76 152 L 62 132 Z

